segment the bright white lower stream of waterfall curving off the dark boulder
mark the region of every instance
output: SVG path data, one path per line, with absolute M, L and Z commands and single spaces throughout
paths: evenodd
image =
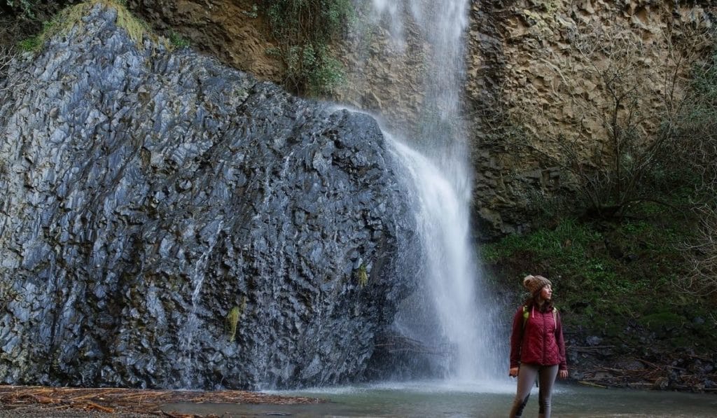
M 455 370 L 450 371 L 449 376 L 461 380 L 476 379 L 483 344 L 479 338 L 482 330 L 476 309 L 473 274 L 476 269 L 468 235 L 466 197 L 460 196 L 455 186 L 427 158 L 402 143 L 394 141 L 394 147 L 417 187 L 416 218 L 427 262 L 424 275 L 442 333 L 412 337 L 428 337 L 434 340 L 427 341 L 433 342 L 432 345 L 442 338 L 447 339 L 448 349 L 455 356 Z M 415 318 L 412 315 L 412 320 Z M 414 324 L 407 320 L 403 318 L 398 325 L 410 333 L 410 329 L 405 328 L 412 328 Z M 428 320 L 424 319 L 423 323 L 426 322 Z

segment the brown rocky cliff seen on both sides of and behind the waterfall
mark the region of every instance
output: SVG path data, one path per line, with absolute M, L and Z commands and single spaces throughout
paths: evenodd
M 261 16 L 247 17 L 250 1 L 129 3 L 156 27 L 170 22 L 224 62 L 282 78 L 280 67 L 267 70 L 270 37 Z M 421 31 L 407 16 L 407 42 L 391 44 L 389 29 L 361 13 L 335 45 L 348 75 L 336 100 L 380 113 L 389 127 L 419 128 L 431 117 L 419 114 L 429 52 Z M 587 169 L 604 163 L 614 104 L 604 70 L 619 69 L 626 54 L 632 67 L 617 87 L 634 87 L 636 100 L 622 103 L 618 116 L 624 121 L 639 114 L 629 128 L 650 141 L 679 100 L 689 63 L 704 51 L 700 39 L 716 14 L 706 0 L 470 2 L 464 108 L 475 170 L 475 237 L 526 232 L 543 197 L 573 193 L 580 185 L 561 168 L 569 163 L 560 161 L 564 156 L 584 161 Z

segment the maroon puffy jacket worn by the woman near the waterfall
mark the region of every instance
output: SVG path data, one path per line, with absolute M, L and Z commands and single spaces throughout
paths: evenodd
M 519 364 L 539 364 L 552 366 L 559 364 L 560 370 L 567 370 L 565 361 L 565 341 L 560 314 L 556 311 L 540 312 L 528 308 L 530 315 L 523 328 L 523 307 L 519 307 L 513 317 L 511 334 L 511 368 Z

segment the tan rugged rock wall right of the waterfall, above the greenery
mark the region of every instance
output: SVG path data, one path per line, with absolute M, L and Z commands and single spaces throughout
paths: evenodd
M 613 116 L 638 147 L 652 141 L 715 13 L 709 1 L 473 2 L 466 93 L 480 236 L 529 229 L 543 196 L 579 186 L 566 163 L 614 157 Z

